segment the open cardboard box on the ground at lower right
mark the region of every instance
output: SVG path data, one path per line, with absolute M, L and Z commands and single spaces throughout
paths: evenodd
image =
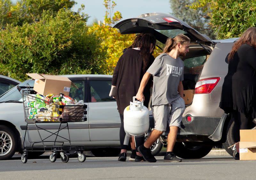
M 240 130 L 240 141 L 234 145 L 240 160 L 256 160 L 256 129 Z

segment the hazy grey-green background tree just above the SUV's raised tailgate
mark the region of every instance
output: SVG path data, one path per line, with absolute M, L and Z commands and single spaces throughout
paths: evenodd
M 197 0 L 170 0 L 172 14 L 188 23 L 188 25 L 195 28 L 200 33 L 209 36 L 211 39 L 216 39 L 213 33 L 214 31 L 208 25 L 210 22 L 208 13 L 211 12 L 211 9 L 205 7 L 198 7 L 196 9 L 190 8 L 190 6 L 196 2 Z

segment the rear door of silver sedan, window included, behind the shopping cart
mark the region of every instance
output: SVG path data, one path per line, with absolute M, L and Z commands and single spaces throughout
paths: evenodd
M 88 77 L 88 120 L 91 141 L 119 141 L 120 116 L 109 97 L 112 78 Z

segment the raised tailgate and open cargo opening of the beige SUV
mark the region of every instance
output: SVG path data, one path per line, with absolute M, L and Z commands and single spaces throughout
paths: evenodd
M 162 48 L 168 37 L 173 38 L 178 34 L 188 36 L 191 40 L 189 53 L 180 58 L 184 61 L 183 99 L 186 105 L 191 104 L 198 76 L 215 44 L 208 36 L 196 31 L 182 20 L 164 13 L 147 13 L 125 19 L 114 28 L 118 28 L 121 34 L 151 33 L 161 42 Z

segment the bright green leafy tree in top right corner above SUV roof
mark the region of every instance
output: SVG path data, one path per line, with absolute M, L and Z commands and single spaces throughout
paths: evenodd
M 212 10 L 209 25 L 220 39 L 239 37 L 256 24 L 255 0 L 198 0 L 191 7 Z

